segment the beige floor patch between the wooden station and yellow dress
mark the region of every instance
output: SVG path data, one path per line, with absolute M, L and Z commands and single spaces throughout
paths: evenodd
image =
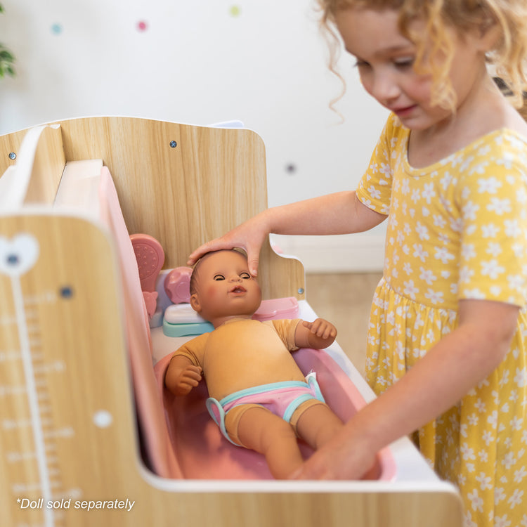
M 337 327 L 337 342 L 364 374 L 367 323 L 381 273 L 306 275 L 306 299 L 315 313 Z

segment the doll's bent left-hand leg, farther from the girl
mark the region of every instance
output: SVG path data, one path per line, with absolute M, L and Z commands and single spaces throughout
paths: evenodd
M 304 462 L 292 426 L 261 406 L 243 412 L 238 438 L 246 448 L 265 455 L 276 479 L 287 478 Z

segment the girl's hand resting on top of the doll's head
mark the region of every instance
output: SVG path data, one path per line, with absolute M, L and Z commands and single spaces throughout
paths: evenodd
M 247 253 L 249 272 L 258 274 L 260 249 L 270 230 L 267 225 L 265 211 L 233 228 L 225 235 L 204 243 L 188 257 L 188 266 L 196 263 L 204 254 L 221 249 L 243 249 Z

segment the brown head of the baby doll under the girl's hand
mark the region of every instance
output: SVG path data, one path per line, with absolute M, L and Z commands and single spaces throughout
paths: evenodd
M 214 327 L 230 318 L 251 318 L 261 290 L 249 273 L 247 256 L 230 249 L 205 254 L 190 278 L 190 305 Z

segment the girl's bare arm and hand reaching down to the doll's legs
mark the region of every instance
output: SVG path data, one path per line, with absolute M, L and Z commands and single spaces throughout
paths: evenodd
M 483 300 L 460 301 L 460 323 L 344 430 L 315 453 L 299 479 L 358 479 L 375 455 L 453 407 L 490 375 L 509 351 L 519 307 Z

